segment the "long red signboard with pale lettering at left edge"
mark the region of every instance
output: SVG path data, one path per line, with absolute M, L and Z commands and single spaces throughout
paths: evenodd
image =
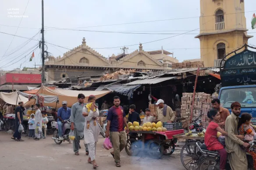
M 4 83 L 42 83 L 41 74 L 19 74 L 19 73 L 6 73 L 0 77 L 0 84 Z

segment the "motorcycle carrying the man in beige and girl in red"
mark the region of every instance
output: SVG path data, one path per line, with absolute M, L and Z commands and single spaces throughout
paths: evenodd
M 250 148 L 249 150 L 253 150 L 256 145 L 256 141 L 249 142 Z M 197 170 L 220 170 L 220 154 L 214 151 L 208 151 L 205 144 L 201 142 L 196 142 L 196 146 L 199 148 L 199 153 L 201 157 L 198 161 Z M 253 158 L 249 153 L 246 153 L 246 157 L 248 160 L 248 170 L 255 170 L 253 168 Z M 227 159 L 226 170 L 231 170 L 230 163 Z

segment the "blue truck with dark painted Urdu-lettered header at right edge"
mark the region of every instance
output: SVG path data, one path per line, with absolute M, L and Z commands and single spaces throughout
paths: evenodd
M 242 106 L 241 114 L 252 114 L 252 124 L 256 125 L 256 52 L 248 47 L 256 49 L 245 44 L 221 60 L 219 99 L 222 107 L 230 112 L 231 103 L 238 101 Z M 235 55 L 228 58 L 233 53 Z

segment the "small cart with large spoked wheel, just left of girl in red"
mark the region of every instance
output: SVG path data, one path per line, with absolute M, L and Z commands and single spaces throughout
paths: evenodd
M 195 133 L 182 133 L 173 136 L 174 139 L 185 140 L 185 145 L 181 149 L 181 163 L 186 168 L 186 170 L 196 170 L 196 166 L 200 156 L 198 155 L 198 147 L 196 142 L 204 142 L 203 132 Z

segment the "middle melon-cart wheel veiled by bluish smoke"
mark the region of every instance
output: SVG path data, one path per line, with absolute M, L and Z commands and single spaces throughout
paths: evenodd
M 160 159 L 164 153 L 164 146 L 159 141 L 151 140 L 148 143 L 148 153 L 149 153 L 149 156 L 155 159 Z

